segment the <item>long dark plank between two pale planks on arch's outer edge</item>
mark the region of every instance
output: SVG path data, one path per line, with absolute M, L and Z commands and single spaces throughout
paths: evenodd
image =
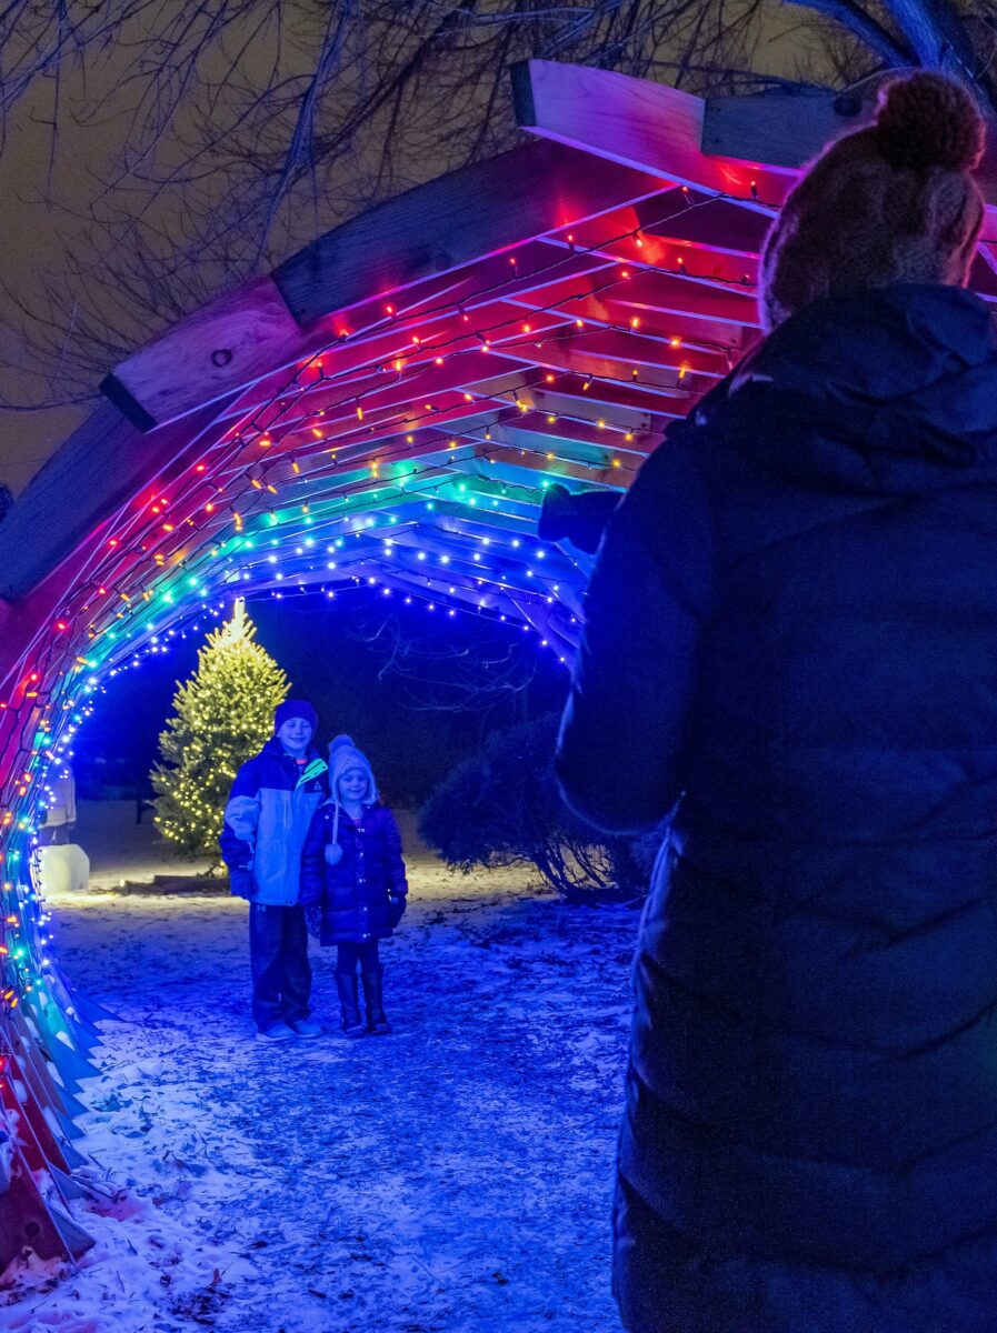
M 273 279 L 295 319 L 308 324 L 662 188 L 653 172 L 525 144 L 368 209 L 292 256 Z

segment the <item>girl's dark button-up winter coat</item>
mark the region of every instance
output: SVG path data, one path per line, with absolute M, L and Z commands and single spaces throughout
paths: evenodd
M 301 893 L 321 898 L 320 944 L 365 944 L 385 940 L 405 910 L 405 862 L 395 816 L 383 805 L 368 805 L 355 821 L 340 808 L 339 844 L 343 860 L 329 865 L 336 806 L 319 806 L 301 854 Z

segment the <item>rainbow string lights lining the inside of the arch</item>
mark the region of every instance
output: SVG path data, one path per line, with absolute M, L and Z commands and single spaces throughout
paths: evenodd
M 716 272 L 690 272 L 684 259 L 656 264 L 646 253 L 665 244 L 652 235 L 656 227 L 712 203 L 744 200 L 700 200 L 685 189 L 662 193 L 669 208 L 660 219 L 589 247 L 578 241 L 580 228 L 557 229 L 542 240 L 564 244 L 566 251 L 529 272 L 513 253 L 501 276 L 461 291 L 460 297 L 455 291 L 461 283 L 451 281 L 436 304 L 427 304 L 415 284 L 405 301 L 383 303 L 355 329 L 333 319 L 333 336 L 273 384 L 264 401 L 252 401 L 259 387 L 247 391 L 243 416 L 228 420 L 232 409 L 227 409 L 217 431 L 192 441 L 80 551 L 52 623 L 33 636 L 13 689 L 8 684 L 8 697 L 0 700 L 0 745 L 13 758 L 0 814 L 7 950 L 0 953 L 5 988 L 0 997 L 5 1004 L 13 1006 L 47 984 L 47 956 L 36 948 L 44 936 L 27 928 L 28 906 L 35 910 L 35 926 L 41 906 L 23 860 L 44 806 L 45 769 L 67 756 L 101 676 L 141 660 L 143 653 L 165 651 L 161 636 L 189 619 L 192 607 L 199 615 L 219 615 L 224 605 L 219 597 L 231 596 L 236 583 L 240 592 L 269 589 L 277 597 L 289 588 L 300 593 L 319 587 L 336 596 L 344 583 L 381 587 L 384 596 L 401 596 L 409 604 L 423 600 L 431 615 L 456 615 L 467 607 L 468 613 L 520 624 L 537 635 L 538 647 L 564 660 L 562 649 L 577 627 L 586 561 L 544 552 L 549 564 L 537 569 L 540 557 L 530 561 L 522 537 L 501 540 L 476 532 L 471 519 L 497 511 L 499 528 L 508 532 L 512 525 L 513 532 L 525 533 L 542 489 L 553 480 L 577 475 L 589 484 L 622 489 L 648 444 L 640 439 L 646 432 L 634 431 L 629 417 L 613 420 L 613 393 L 625 385 L 644 395 L 648 408 L 641 416 L 654 435 L 669 415 L 681 415 L 704 376 L 716 380 L 726 372 L 730 345 L 669 336 L 665 313 L 616 321 L 577 311 L 580 303 L 590 307 L 610 296 L 636 273 L 684 279 L 690 287 L 737 287 L 745 297 L 753 295 L 748 275 L 734 283 Z M 604 260 L 608 249 L 625 244 L 634 251 L 632 260 Z M 522 249 L 534 245 L 524 243 Z M 499 259 L 479 267 L 495 273 Z M 541 292 L 528 312 L 501 309 L 505 297 L 536 293 L 561 279 L 569 289 L 549 300 Z M 694 309 L 689 313 L 694 319 Z M 629 367 L 625 379 L 544 365 L 545 351 L 548 360 L 565 348 L 574 355 L 586 340 L 605 335 L 648 347 L 650 365 L 660 367 L 674 352 L 673 380 L 662 383 L 640 365 Z M 387 356 L 392 349 L 396 355 Z M 500 367 L 510 363 L 509 383 L 496 384 L 501 375 L 485 376 L 476 365 L 465 385 L 455 375 L 441 395 L 423 392 L 427 375 L 455 363 L 460 369 L 461 359 L 481 356 Z M 606 357 L 598 352 L 594 360 Z M 593 415 L 581 407 L 545 411 L 537 401 L 538 393 L 552 392 L 584 404 L 593 387 L 609 399 Z M 385 389 L 392 391 L 388 399 Z M 666 411 L 669 401 L 676 403 L 674 413 Z M 638 412 L 632 404 L 626 411 Z M 451 433 L 439 429 L 448 417 Z M 495 469 L 501 480 L 477 475 L 479 467 Z M 534 480 L 528 483 L 524 476 L 530 472 Z M 332 475 L 335 487 L 329 485 Z M 295 492 L 308 499 L 295 500 Z M 433 499 L 427 500 L 427 493 Z M 436 504 L 464 516 L 455 519 L 453 536 L 465 557 L 441 541 L 443 511 L 433 511 Z M 413 505 L 427 508 L 413 517 Z M 351 524 L 360 527 L 351 531 Z M 412 541 L 387 536 L 392 528 L 403 528 Z M 317 559 L 320 552 L 328 557 L 341 551 L 336 543 L 347 540 L 360 541 L 355 557 Z M 276 553 L 267 549 L 268 541 L 277 544 Z M 574 609 L 565 612 L 565 607 Z

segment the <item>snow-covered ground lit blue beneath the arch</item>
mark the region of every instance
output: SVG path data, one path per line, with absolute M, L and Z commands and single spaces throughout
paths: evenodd
M 96 884 L 151 877 L 115 853 L 101 878 L 89 850 Z M 636 909 L 409 860 L 384 949 L 396 1030 L 357 1042 L 333 1026 L 317 949 L 329 1034 L 253 1040 L 239 901 L 55 902 L 68 976 L 119 1020 L 81 1144 L 103 1193 L 75 1205 L 97 1245 L 76 1273 L 8 1272 L 0 1328 L 618 1329 L 608 1212 Z

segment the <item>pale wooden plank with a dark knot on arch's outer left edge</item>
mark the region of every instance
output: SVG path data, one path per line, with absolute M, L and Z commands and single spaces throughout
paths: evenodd
M 103 392 L 143 431 L 216 403 L 316 345 L 271 277 L 209 301 L 115 367 Z

